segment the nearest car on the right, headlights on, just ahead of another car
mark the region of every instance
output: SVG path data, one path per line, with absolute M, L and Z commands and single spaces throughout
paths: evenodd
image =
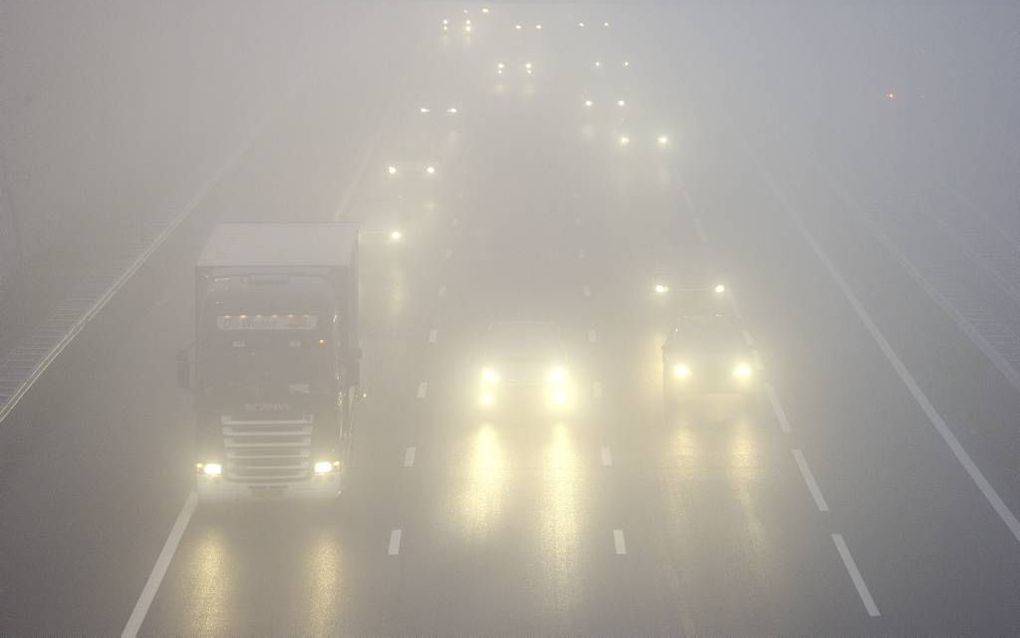
M 667 405 L 712 394 L 748 395 L 755 389 L 754 356 L 732 316 L 681 316 L 662 346 L 662 390 Z

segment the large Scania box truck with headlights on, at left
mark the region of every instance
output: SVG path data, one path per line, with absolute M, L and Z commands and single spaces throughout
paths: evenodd
M 195 285 L 200 499 L 336 497 L 361 356 L 357 225 L 217 226 Z

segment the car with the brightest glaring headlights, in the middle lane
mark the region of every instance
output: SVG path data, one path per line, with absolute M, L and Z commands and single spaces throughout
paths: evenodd
M 478 371 L 479 407 L 528 402 L 561 411 L 573 400 L 566 349 L 555 325 L 499 322 L 489 328 Z

